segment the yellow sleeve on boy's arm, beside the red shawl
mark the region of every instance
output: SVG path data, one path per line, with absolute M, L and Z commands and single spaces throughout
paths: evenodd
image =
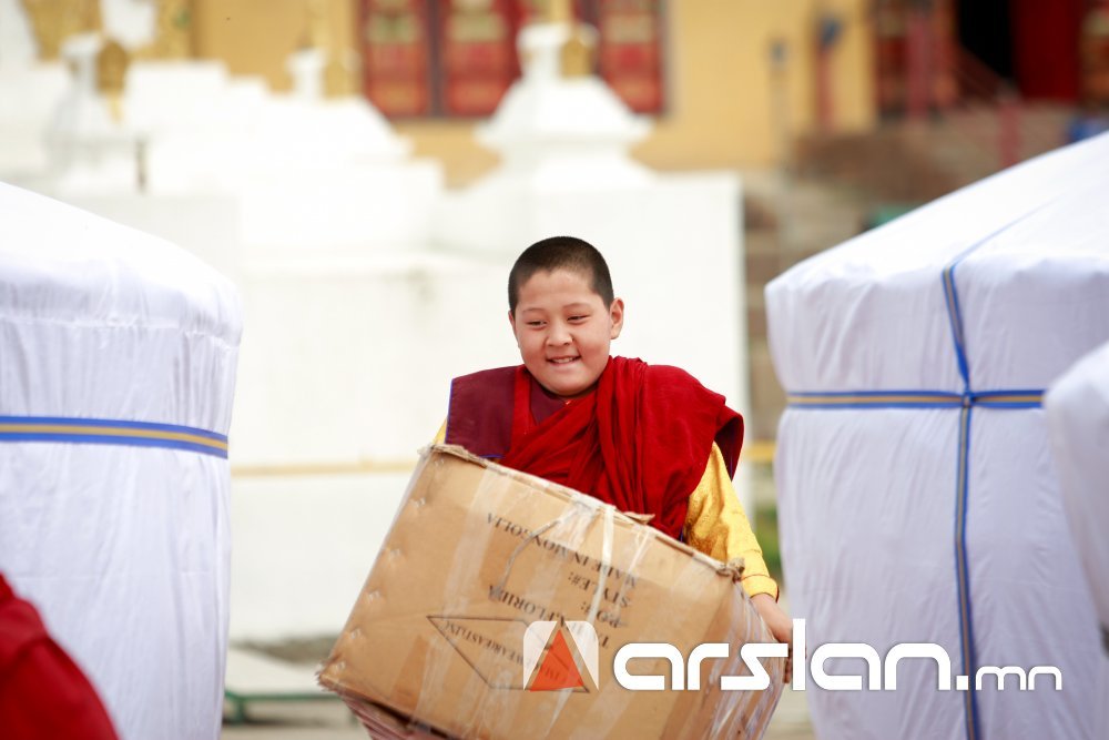
M 724 456 L 715 443 L 701 483 L 690 494 L 685 515 L 685 543 L 724 562 L 743 558 L 743 590 L 747 596 L 770 594 L 777 599 L 777 584 L 770 577 L 759 540 L 743 513 Z

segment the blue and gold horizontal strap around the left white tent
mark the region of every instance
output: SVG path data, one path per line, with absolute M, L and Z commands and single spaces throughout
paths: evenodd
M 162 447 L 227 458 L 225 435 L 175 424 L 122 419 L 0 416 L 0 443 L 4 442 Z

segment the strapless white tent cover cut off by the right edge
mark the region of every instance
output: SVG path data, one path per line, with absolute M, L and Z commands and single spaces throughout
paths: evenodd
M 1075 546 L 1101 626 L 1100 718 L 1109 737 L 1109 344 L 1085 356 L 1044 397 L 1051 453 Z M 1091 646 L 1090 648 L 1095 648 Z

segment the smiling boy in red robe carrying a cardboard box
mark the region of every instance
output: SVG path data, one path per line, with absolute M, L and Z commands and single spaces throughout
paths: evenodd
M 743 588 L 790 642 L 732 488 L 742 417 L 684 371 L 609 356 L 624 305 L 588 242 L 553 236 L 525 250 L 508 306 L 523 365 L 455 378 L 437 440 L 653 515 L 651 525 L 719 560 L 743 558 Z

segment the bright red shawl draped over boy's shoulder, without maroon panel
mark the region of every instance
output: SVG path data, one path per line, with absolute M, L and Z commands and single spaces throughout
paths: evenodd
M 682 369 L 613 357 L 592 393 L 541 424 L 531 414 L 531 383 L 518 367 L 511 447 L 501 459 L 508 467 L 652 514 L 651 524 L 675 538 L 714 440 L 735 473 L 743 418 Z

